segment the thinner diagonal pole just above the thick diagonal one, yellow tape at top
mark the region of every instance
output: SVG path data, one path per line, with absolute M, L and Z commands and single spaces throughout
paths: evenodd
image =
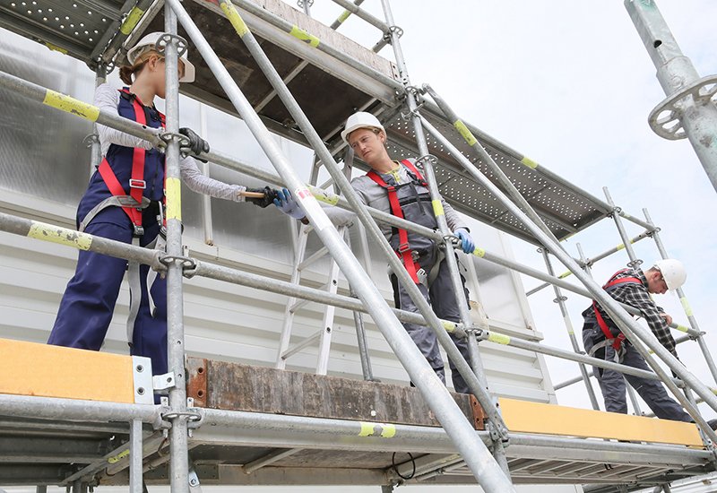
M 463 359 L 461 351 L 458 350 L 451 337 L 446 333 L 446 330 L 456 330 L 455 325 L 451 325 L 452 323 L 445 325 L 441 322 L 431 309 L 428 301 L 423 298 L 416 284 L 410 279 L 410 275 L 404 268 L 401 260 L 395 255 L 393 248 L 388 244 L 386 238 L 384 238 L 381 229 L 378 228 L 376 222 L 371 218 L 367 211 L 367 206 L 360 201 L 357 193 L 351 188 L 349 180 L 343 176 L 341 169 L 336 164 L 336 161 L 333 160 L 332 153 L 326 148 L 326 145 L 319 134 L 316 133 L 313 125 L 311 125 L 307 116 L 298 106 L 296 99 L 294 99 L 286 84 L 281 80 L 281 76 L 276 72 L 276 69 L 266 54 L 263 53 L 263 49 L 254 35 L 246 27 L 246 23 L 237 12 L 234 4 L 228 0 L 220 0 L 220 7 L 229 18 L 229 21 L 232 22 L 232 25 L 234 25 L 239 37 L 244 41 L 252 56 L 254 56 L 264 75 L 269 82 L 272 83 L 274 90 L 277 91 L 281 101 L 289 110 L 291 117 L 298 123 L 302 132 L 306 135 L 307 141 L 324 163 L 324 166 L 333 178 L 333 183 L 341 188 L 341 192 L 345 195 L 347 202 L 350 203 L 353 212 L 356 212 L 358 219 L 365 226 L 367 233 L 371 235 L 376 245 L 381 247 L 382 253 L 391 266 L 393 273 L 398 277 L 398 280 L 402 283 L 402 286 L 409 294 L 413 303 L 419 308 L 420 314 L 428 321 L 428 326 L 436 333 L 438 342 L 443 346 L 448 357 L 454 362 L 454 366 L 458 368 L 461 376 L 468 384 L 471 393 L 478 399 L 483 411 L 485 411 L 488 416 L 488 420 L 497 428 L 497 432 L 501 437 L 505 438 L 507 434 L 505 422 L 497 411 L 495 402 L 493 402 L 490 394 L 488 394 L 486 387 L 481 385 L 479 378 L 473 373 L 471 366 Z M 311 37 L 310 34 L 306 34 Z M 315 43 L 316 47 L 321 46 L 319 39 L 313 39 L 312 43 Z

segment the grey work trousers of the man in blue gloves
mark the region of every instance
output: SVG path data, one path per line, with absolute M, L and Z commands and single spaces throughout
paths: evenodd
M 424 265 L 426 272 L 430 272 L 430 266 Z M 468 299 L 468 290 L 465 288 L 465 279 L 461 276 L 463 290 L 465 290 L 465 298 Z M 403 289 L 401 283 L 395 275 L 391 274 L 391 284 L 393 285 L 393 300 L 397 308 L 409 312 L 419 313 L 419 308 L 410 299 L 410 296 Z M 433 308 L 438 318 L 443 318 L 451 322 L 460 323 L 461 314 L 458 311 L 458 302 L 455 298 L 453 283 L 451 282 L 451 274 L 448 270 L 448 264 L 441 262 L 436 279 L 431 283 L 430 288 L 426 288 L 423 284 L 419 284 L 419 290 L 424 298 Z M 445 365 L 441 357 L 440 348 L 436 339 L 436 333 L 426 325 L 419 324 L 403 324 L 410 338 L 416 343 L 423 356 L 428 359 L 428 364 L 436 372 L 436 375 L 445 384 Z M 454 344 L 461 351 L 463 358 L 470 363 L 471 359 L 468 353 L 468 342 L 465 339 L 459 339 L 453 333 L 450 334 Z M 454 382 L 455 392 L 461 394 L 470 394 L 468 385 L 463 377 L 455 368 L 454 362 L 449 358 L 448 364 L 451 368 L 451 376 Z

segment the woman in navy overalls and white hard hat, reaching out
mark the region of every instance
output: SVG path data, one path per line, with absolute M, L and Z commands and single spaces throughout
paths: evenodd
M 95 91 L 94 103 L 104 111 L 152 128 L 164 126 L 164 115 L 154 99 L 165 96 L 165 61 L 156 48 L 163 33 L 152 32 L 127 51 L 129 65 L 119 70 L 126 86 L 120 90 L 105 83 Z M 194 81 L 194 65 L 186 52 L 179 58 L 179 81 Z M 209 144 L 189 128 L 181 128 L 194 154 L 209 151 Z M 103 160 L 77 209 L 77 227 L 92 235 L 142 247 L 163 244 L 164 154 L 151 143 L 98 125 Z M 228 185 L 205 177 L 192 157 L 181 160 L 181 177 L 200 194 L 235 202 L 250 201 L 265 207 L 272 203 L 271 189 L 262 198 L 246 198 L 245 186 Z M 264 189 L 252 190 L 264 192 Z M 257 194 L 258 195 L 258 194 Z M 122 259 L 80 251 L 77 269 L 67 284 L 48 343 L 99 350 L 104 342 L 127 271 L 130 315 L 127 337 L 133 355 L 151 358 L 152 373 L 167 372 L 167 288 L 147 265 L 130 265 Z

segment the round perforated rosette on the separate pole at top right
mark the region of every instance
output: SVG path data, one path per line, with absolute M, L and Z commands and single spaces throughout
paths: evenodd
M 684 112 L 683 99 L 692 96 L 695 105 L 707 105 L 714 103 L 714 96 L 717 94 L 717 75 L 709 75 L 698 79 L 684 87 L 681 91 L 663 99 L 650 112 L 647 121 L 652 132 L 660 135 L 669 141 L 678 141 L 687 137 L 685 128 L 682 126 L 682 115 Z

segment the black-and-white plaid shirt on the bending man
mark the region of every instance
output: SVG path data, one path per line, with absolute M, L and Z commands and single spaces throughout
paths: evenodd
M 660 316 L 660 314 L 663 313 L 662 308 L 658 307 L 655 302 L 652 301 L 650 292 L 647 290 L 647 279 L 644 277 L 644 272 L 640 269 L 627 269 L 611 277 L 609 281 L 625 277 L 636 277 L 642 284 L 625 282 L 613 286 L 609 290 L 610 297 L 620 303 L 640 310 L 645 321 L 647 321 L 647 324 L 650 326 L 652 333 L 657 337 L 657 340 L 669 350 L 669 352 L 675 354 L 675 339 L 669 332 L 669 325 L 665 322 L 665 319 Z M 600 315 L 605 319 L 605 322 L 610 328 L 617 326 L 610 320 L 600 305 L 598 305 L 598 309 L 600 310 Z M 586 323 L 592 322 L 592 324 L 597 324 L 592 306 L 583 312 L 583 316 L 585 317 Z

